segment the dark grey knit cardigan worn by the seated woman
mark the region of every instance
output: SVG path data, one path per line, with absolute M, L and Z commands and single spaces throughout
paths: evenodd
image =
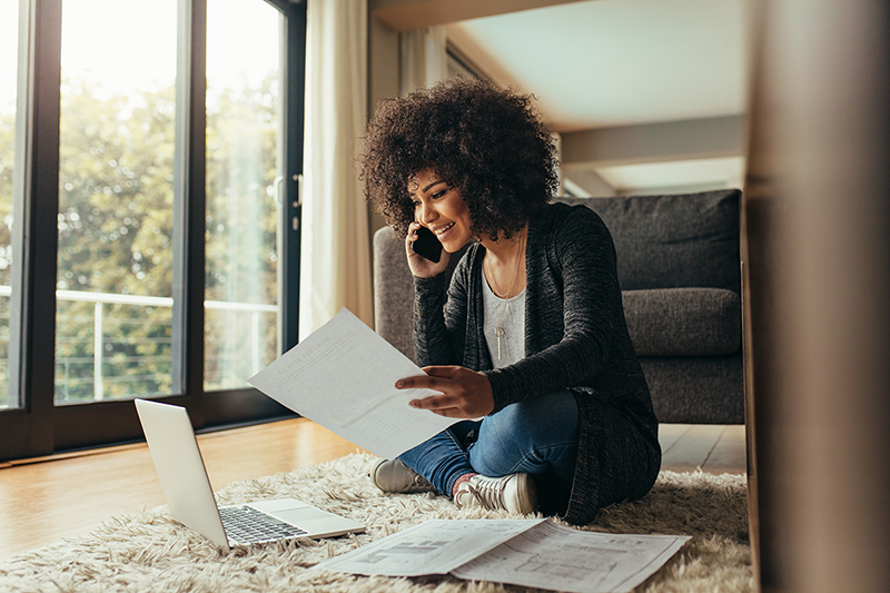
M 661 467 L 657 419 L 631 344 L 602 219 L 550 204 L 528 224 L 525 358 L 493 369 L 483 334 L 482 260 L 474 244 L 444 275 L 415 278 L 414 346 L 421 366 L 484 372 L 494 412 L 568 388 L 578 406 L 578 453 L 563 518 L 590 523 L 609 504 L 645 495 Z

